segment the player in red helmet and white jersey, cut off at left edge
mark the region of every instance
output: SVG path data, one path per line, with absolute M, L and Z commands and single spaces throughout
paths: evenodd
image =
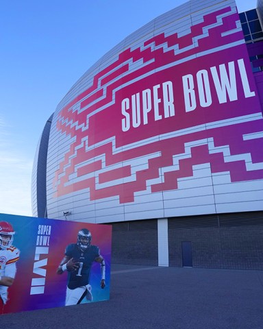
M 7 221 L 0 221 L 0 314 L 8 301 L 8 287 L 16 275 L 16 262 L 20 251 L 12 245 L 14 229 Z

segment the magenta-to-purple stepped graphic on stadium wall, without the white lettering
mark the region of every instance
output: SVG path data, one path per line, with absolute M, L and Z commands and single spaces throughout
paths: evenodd
M 214 24 L 218 22 L 218 17 L 222 16 L 222 23 Z M 229 171 L 231 182 L 262 179 L 262 169 L 248 171 L 245 160 L 227 162 L 225 154 L 220 151 L 220 147 L 228 147 L 231 155 L 251 154 L 253 163 L 263 161 L 263 154 L 259 152 L 263 146 L 262 138 L 253 141 L 244 139 L 244 135 L 262 131 L 262 119 L 234 120 L 253 117 L 261 112 L 242 30 L 236 29 L 238 20 L 237 12 L 231 12 L 229 7 L 212 12 L 203 17 L 203 22 L 193 25 L 190 34 L 179 37 L 177 33 L 169 36 L 162 33 L 154 36 L 144 42 L 143 47 L 123 51 L 116 62 L 95 75 L 93 85 L 60 111 L 57 129 L 68 136 L 75 136 L 75 139 L 72 139 L 70 149 L 55 173 L 54 196 L 60 197 L 89 188 L 90 200 L 118 196 L 121 204 L 134 202 L 134 193 L 145 191 L 149 180 L 159 178 L 160 168 L 171 167 L 173 157 L 184 154 L 189 143 L 204 140 L 207 141 L 206 145 L 193 145 L 191 156 L 179 160 L 179 169 L 166 170 L 162 182 L 153 182 L 151 192 L 177 189 L 178 178 L 192 175 L 192 166 L 195 164 L 208 162 L 212 173 Z M 214 27 L 210 27 L 212 24 Z M 203 32 L 206 27 L 209 27 L 208 34 Z M 198 42 L 191 47 L 193 40 Z M 187 58 L 191 59 L 186 60 Z M 127 63 L 138 60 L 142 60 L 144 65 L 129 72 Z M 242 70 L 238 66 L 240 60 L 244 63 L 249 96 L 245 93 L 244 72 L 241 73 Z M 237 99 L 230 101 L 227 95 L 227 100 L 221 102 L 211 68 L 215 67 L 218 72 L 220 66 L 225 64 L 227 79 L 231 83 L 231 63 L 234 63 L 232 74 L 236 79 Z M 187 112 L 182 76 L 192 75 L 197 90 L 197 74 L 203 70 L 208 73 L 212 104 L 209 107 L 202 107 L 196 92 L 197 107 Z M 148 74 L 149 72 L 152 73 Z M 131 81 L 133 82 L 130 83 Z M 146 88 L 153 90 L 153 86 L 162 86 L 167 81 L 173 84 L 175 115 L 164 119 L 164 106 L 160 103 L 158 114 L 162 120 L 155 120 L 155 114 L 151 110 L 147 117 L 147 125 L 141 123 L 138 127 L 130 127 L 129 130 L 123 131 L 123 99 L 126 97 L 132 103 L 132 95 L 142 93 Z M 162 99 L 164 95 L 161 89 L 159 91 Z M 73 106 L 77 104 L 79 111 L 73 111 Z M 100 108 L 102 110 L 97 110 Z M 213 127 L 212 123 L 216 125 Z M 191 127 L 201 128 L 190 131 Z M 165 137 L 173 132 L 184 133 Z M 156 136 L 162 138 L 142 143 L 137 147 L 129 147 Z M 88 141 L 88 149 L 85 143 L 83 145 L 85 138 Z M 122 151 L 122 147 L 125 147 L 125 150 Z M 136 171 L 136 180 L 129 180 L 132 175 L 129 161 L 156 152 L 160 152 L 160 156 L 149 159 L 148 169 Z M 105 164 L 101 160 L 103 156 Z M 114 169 L 110 168 L 112 165 Z M 107 167 L 109 169 L 105 171 Z M 104 170 L 103 173 L 99 173 L 99 181 L 92 175 L 88 177 L 90 173 L 99 172 L 100 169 Z M 70 181 L 72 173 L 77 173 L 77 180 Z M 114 180 L 120 179 L 127 181 L 122 184 L 114 183 Z M 112 184 L 98 188 L 98 182 Z

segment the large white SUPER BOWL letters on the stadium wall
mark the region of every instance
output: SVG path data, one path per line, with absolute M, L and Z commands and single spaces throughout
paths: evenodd
M 243 59 L 220 64 L 218 67 L 211 66 L 209 70 L 201 69 L 195 76 L 183 75 L 181 81 L 184 90 L 185 112 L 191 112 L 197 106 L 208 108 L 212 105 L 212 84 L 216 90 L 218 103 L 238 100 L 238 79 L 242 84 L 245 98 L 255 96 L 255 92 L 251 91 L 249 86 Z M 147 88 L 141 93 L 123 99 L 121 102 L 121 113 L 124 117 L 122 119 L 123 132 L 127 132 L 131 127 L 139 127 L 141 124 L 147 125 L 149 113 L 152 110 L 154 121 L 174 117 L 177 95 L 174 90 L 174 83 L 166 81 L 162 83 L 162 87 L 161 84 L 156 84 L 151 89 Z M 199 103 L 197 103 L 198 101 Z

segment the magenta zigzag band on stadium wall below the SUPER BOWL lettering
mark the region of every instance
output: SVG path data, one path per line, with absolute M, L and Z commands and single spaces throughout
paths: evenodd
M 258 129 L 256 121 L 242 123 L 241 125 L 246 132 L 255 132 Z M 251 150 L 259 149 L 263 138 L 242 141 L 243 137 L 242 134 L 238 136 L 239 132 L 240 125 L 232 130 L 234 143 L 230 145 L 229 130 L 222 127 L 220 130 L 212 130 L 210 138 L 203 138 L 204 133 L 199 132 L 195 134 L 195 139 L 192 135 L 182 136 L 139 147 L 136 150 L 138 158 L 148 154 L 148 159 L 145 167 L 139 168 L 140 170 L 137 171 L 136 166 L 133 167 L 132 164 L 129 164 L 129 161 L 132 162 L 131 154 L 133 152 L 129 150 L 122 152 L 122 154 L 113 155 L 111 143 L 97 147 L 92 154 L 86 152 L 83 154 L 82 152 L 82 154 L 77 155 L 77 158 L 82 155 L 82 160 L 85 161 L 92 157 L 91 159 L 94 162 L 77 169 L 77 177 L 82 178 L 82 180 L 73 184 L 74 191 L 89 187 L 91 200 L 118 195 L 121 203 L 133 202 L 134 193 L 144 191 L 147 188 L 147 181 L 160 178 L 163 173 L 163 182 L 152 184 L 151 191 L 159 192 L 176 189 L 179 178 L 191 177 L 192 167 L 195 164 L 203 163 L 210 163 L 212 173 L 229 171 L 231 182 L 262 179 L 263 154 Z M 215 146 L 218 140 L 222 144 Z M 158 151 L 160 149 L 161 152 Z M 240 154 L 240 152 L 242 153 Z M 253 162 L 251 161 L 252 158 Z M 112 164 L 118 164 L 118 167 L 112 169 Z M 106 171 L 103 171 L 104 169 Z M 60 184 L 64 184 L 66 189 L 62 194 L 73 191 L 71 184 L 66 186 L 68 175 L 71 172 L 72 169 L 69 166 L 60 177 Z M 134 177 L 131 180 L 132 172 L 134 172 Z M 86 175 L 89 173 L 91 175 L 87 178 Z M 127 181 L 125 181 L 125 178 L 127 178 Z M 118 183 L 119 180 L 121 182 Z M 104 187 L 105 182 L 111 184 Z

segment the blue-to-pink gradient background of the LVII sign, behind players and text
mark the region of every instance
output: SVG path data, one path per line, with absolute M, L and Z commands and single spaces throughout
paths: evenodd
M 77 241 L 77 232 L 88 228 L 92 233 L 92 244 L 97 245 L 106 264 L 106 287 L 100 288 L 101 269 L 99 264 L 92 265 L 90 284 L 93 301 L 110 299 L 110 259 L 111 259 L 111 226 L 54 219 L 40 219 L 15 215 L 0 214 L 1 221 L 12 223 L 16 234 L 14 245 L 21 250 L 21 258 L 17 262 L 17 272 L 14 284 L 9 288 L 9 300 L 3 313 L 16 313 L 25 310 L 36 310 L 64 306 L 66 298 L 67 275 L 58 275 L 56 269 L 64 257 L 66 245 Z M 40 260 L 47 258 L 45 276 L 33 273 L 38 227 L 51 226 L 49 252 L 40 255 Z M 33 278 L 45 278 L 44 293 L 30 295 Z

